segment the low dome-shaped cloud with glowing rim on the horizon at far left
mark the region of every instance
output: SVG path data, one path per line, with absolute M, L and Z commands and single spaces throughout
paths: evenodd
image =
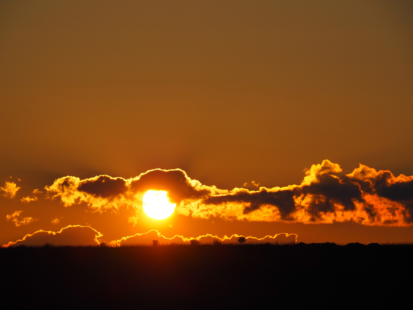
M 97 238 L 101 236 L 103 235 L 99 231 L 90 226 L 69 225 L 60 231 L 38 230 L 3 246 L 39 245 L 46 242 L 55 245 L 99 244 Z

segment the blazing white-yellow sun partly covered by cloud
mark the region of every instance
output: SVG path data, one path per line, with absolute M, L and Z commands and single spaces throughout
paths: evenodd
M 152 219 L 166 219 L 175 211 L 176 203 L 170 203 L 166 191 L 149 190 L 143 195 L 143 210 Z

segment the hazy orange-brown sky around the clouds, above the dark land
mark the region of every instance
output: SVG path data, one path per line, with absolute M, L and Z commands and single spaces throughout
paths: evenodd
M 168 238 L 412 241 L 403 213 L 413 174 L 412 12 L 410 1 L 0 2 L 0 243 L 69 225 L 106 242 L 151 229 Z M 325 159 L 340 165 L 346 190 L 305 189 L 303 169 Z M 359 163 L 391 171 L 386 186 L 403 189 L 379 188 L 379 174 L 363 188 L 365 179 L 345 176 Z M 202 204 L 231 203 L 231 215 L 214 207 L 157 221 L 135 202 L 101 212 L 45 190 L 65 176 L 129 179 L 157 168 L 223 191 L 302 185 L 313 198 L 295 196 L 294 206 L 321 195 L 334 216 L 264 216 L 262 200 L 228 196 Z M 346 182 L 360 192 L 348 194 Z M 251 203 L 260 214 L 244 212 Z M 368 205 L 380 216 L 366 216 Z

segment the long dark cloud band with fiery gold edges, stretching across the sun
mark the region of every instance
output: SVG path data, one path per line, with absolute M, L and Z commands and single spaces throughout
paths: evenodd
M 254 185 L 257 184 L 254 182 Z M 394 176 L 365 165 L 342 174 L 338 164 L 324 160 L 306 170 L 299 185 L 256 190 L 224 190 L 190 179 L 180 169 L 154 169 L 131 179 L 107 175 L 90 179 L 66 176 L 47 186 L 49 197 L 65 206 L 85 202 L 90 209 L 142 207 L 148 189 L 169 192 L 178 214 L 249 221 L 408 226 L 413 222 L 413 176 Z

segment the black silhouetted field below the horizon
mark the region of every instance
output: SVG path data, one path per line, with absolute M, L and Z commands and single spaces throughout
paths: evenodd
M 1 248 L 0 308 L 394 307 L 411 300 L 412 258 L 377 244 Z

